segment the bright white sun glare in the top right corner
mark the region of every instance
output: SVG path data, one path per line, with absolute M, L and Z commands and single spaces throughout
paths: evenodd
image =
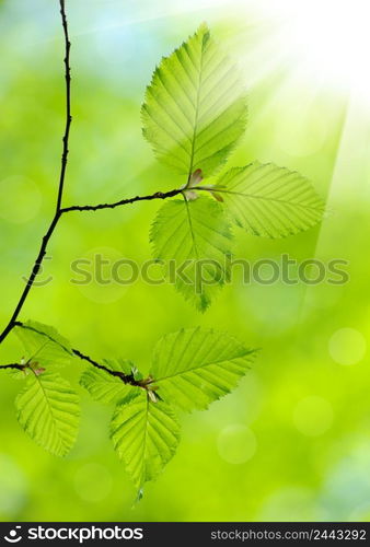
M 363 94 L 370 89 L 369 0 L 264 0 L 280 47 L 304 72 Z

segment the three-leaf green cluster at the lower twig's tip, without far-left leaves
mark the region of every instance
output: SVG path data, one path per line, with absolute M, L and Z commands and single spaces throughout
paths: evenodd
M 178 444 L 180 426 L 172 407 L 206 409 L 238 385 L 255 356 L 255 350 L 227 334 L 190 328 L 159 341 L 141 386 L 127 386 L 120 379 L 91 369 L 80 383 L 94 399 L 117 403 L 111 427 L 113 444 L 141 489 L 159 475 Z M 129 361 L 111 363 L 119 372 L 132 371 Z

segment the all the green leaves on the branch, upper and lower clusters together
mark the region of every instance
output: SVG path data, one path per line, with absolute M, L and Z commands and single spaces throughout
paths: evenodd
M 244 132 L 246 100 L 238 70 L 206 25 L 155 69 L 142 123 L 158 159 L 186 176 L 182 199 L 166 201 L 152 225 L 155 257 L 190 264 L 190 282 L 178 278 L 176 289 L 199 310 L 229 279 L 224 258 L 232 253 L 232 224 L 254 235 L 284 237 L 321 220 L 322 200 L 296 172 L 254 162 L 217 175 Z M 199 260 L 208 261 L 203 271 L 208 282 L 201 286 Z M 94 400 L 115 405 L 113 445 L 139 491 L 176 451 L 176 408 L 208 408 L 236 386 L 256 354 L 226 334 L 180 330 L 158 342 L 144 377 L 124 359 L 92 361 L 53 327 L 28 322 L 14 331 L 26 357 L 8 368 L 25 381 L 15 401 L 24 430 L 53 454 L 69 453 L 80 404 L 58 369 L 76 358 L 88 361 L 80 384 Z

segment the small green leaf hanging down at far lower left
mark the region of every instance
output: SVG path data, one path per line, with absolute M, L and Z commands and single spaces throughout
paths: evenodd
M 68 454 L 77 438 L 80 406 L 66 380 L 57 373 L 30 371 L 15 407 L 20 424 L 37 444 L 57 456 Z

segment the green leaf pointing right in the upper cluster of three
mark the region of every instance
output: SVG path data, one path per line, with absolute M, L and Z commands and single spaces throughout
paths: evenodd
M 232 168 L 216 187 L 234 222 L 254 235 L 286 237 L 323 218 L 324 202 L 311 183 L 270 163 Z

